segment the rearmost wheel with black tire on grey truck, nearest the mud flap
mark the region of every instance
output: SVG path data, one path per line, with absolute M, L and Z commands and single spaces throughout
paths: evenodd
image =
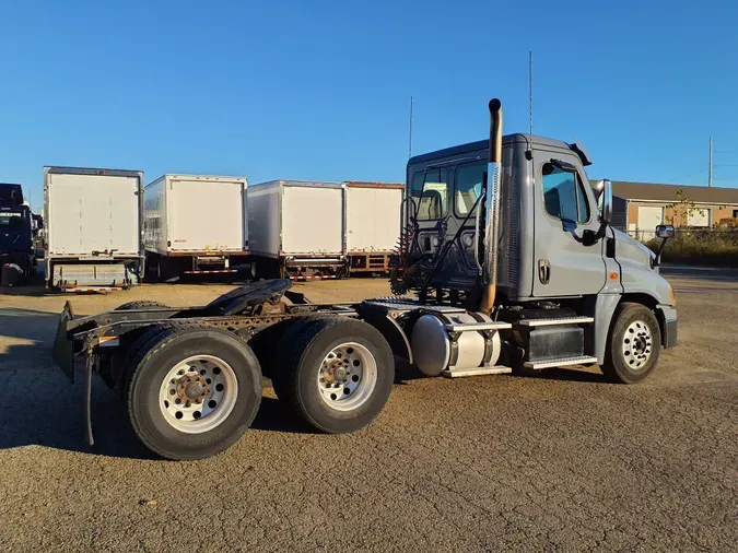
M 128 415 L 155 454 L 174 460 L 210 457 L 251 425 L 261 401 L 261 373 L 251 349 L 234 333 L 162 325 L 142 334 L 131 351 Z

